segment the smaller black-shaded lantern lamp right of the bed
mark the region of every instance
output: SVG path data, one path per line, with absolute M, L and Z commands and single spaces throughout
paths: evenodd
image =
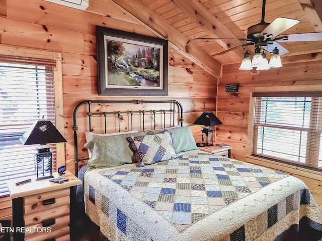
M 201 143 L 197 143 L 198 147 L 213 146 L 213 131 L 212 126 L 222 124 L 221 121 L 212 112 L 203 112 L 198 119 L 194 122 L 195 125 L 205 126 L 201 131 Z M 206 142 L 204 143 L 206 139 Z

